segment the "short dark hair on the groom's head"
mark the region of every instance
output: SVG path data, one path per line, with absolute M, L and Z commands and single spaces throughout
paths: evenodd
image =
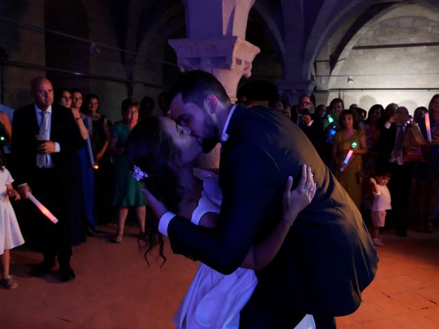
M 169 88 L 167 98 L 169 103 L 176 95 L 181 94 L 184 103 L 195 103 L 202 107 L 207 95 L 213 94 L 222 103 L 230 104 L 230 98 L 221 82 L 206 71 L 189 71 L 178 77 L 174 85 Z

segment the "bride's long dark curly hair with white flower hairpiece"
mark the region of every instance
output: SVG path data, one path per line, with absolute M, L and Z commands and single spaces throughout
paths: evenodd
M 133 169 L 135 165 L 143 173 L 147 173 L 147 178 L 142 179 L 145 187 L 172 212 L 179 210 L 182 189 L 169 164 L 175 161 L 180 153 L 180 149 L 165 132 L 158 117 L 148 117 L 139 121 L 130 132 L 125 145 L 130 168 Z M 150 265 L 147 255 L 158 245 L 158 257 L 163 259 L 163 266 L 166 257 L 163 254 L 163 235 L 158 232 L 158 219 L 154 215 L 149 216 L 145 226 L 145 260 Z

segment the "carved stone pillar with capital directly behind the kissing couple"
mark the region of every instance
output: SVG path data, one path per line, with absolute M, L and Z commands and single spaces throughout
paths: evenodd
M 244 40 L 248 12 L 254 0 L 185 0 L 186 39 L 169 40 L 181 71 L 203 70 L 222 83 L 236 101 L 242 76 L 250 77 L 252 61 L 260 49 Z M 219 167 L 219 145 L 202 155 L 199 167 Z

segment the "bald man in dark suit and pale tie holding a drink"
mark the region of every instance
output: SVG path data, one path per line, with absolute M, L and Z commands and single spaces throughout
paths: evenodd
M 71 192 L 71 152 L 82 144 L 73 114 L 53 104 L 54 90 L 49 80 L 32 80 L 34 103 L 14 112 L 12 161 L 15 184 L 23 199 L 32 194 L 58 218 L 54 224 L 36 207 L 27 208 L 27 220 L 34 223 L 38 249 L 44 259 L 36 276 L 49 273 L 58 258 L 60 276 L 75 278 L 70 267 L 72 255 L 67 223 L 67 200 Z

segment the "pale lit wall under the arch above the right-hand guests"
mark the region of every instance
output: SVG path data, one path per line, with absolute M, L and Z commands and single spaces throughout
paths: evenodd
M 329 94 L 316 94 L 317 103 L 342 97 L 346 107 L 357 103 L 368 110 L 375 103 L 395 102 L 410 112 L 427 106 L 439 93 L 439 46 L 381 47 L 353 49 L 358 46 L 410 45 L 439 43 L 439 13 L 420 5 L 400 5 L 366 24 L 344 51 L 329 79 Z M 348 77 L 353 81 L 348 83 Z M 376 90 L 368 90 L 376 89 Z M 422 89 L 422 90 L 418 90 Z

